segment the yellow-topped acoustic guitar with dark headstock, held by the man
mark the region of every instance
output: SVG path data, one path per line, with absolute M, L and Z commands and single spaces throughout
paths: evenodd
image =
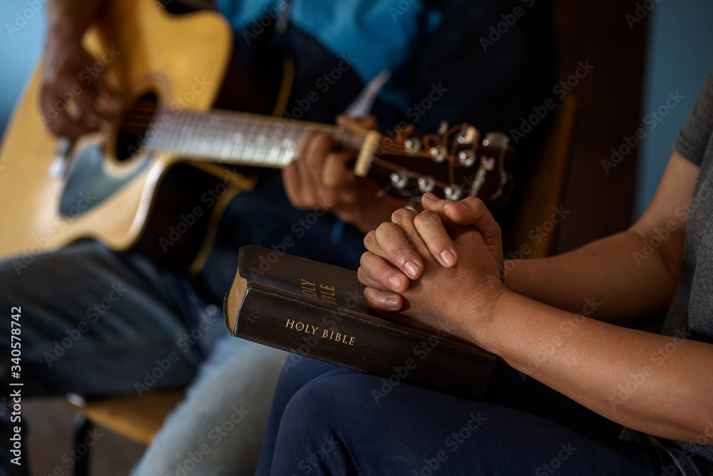
M 130 106 L 101 133 L 56 138 L 38 108 L 39 65 L 0 148 L 0 259 L 19 274 L 81 238 L 196 273 L 230 198 L 255 185 L 249 171 L 286 165 L 312 132 L 352 151 L 357 175 L 384 193 L 508 196 L 513 148 L 499 133 L 481 140 L 468 124 L 426 135 L 408 126 L 389 137 L 211 110 L 232 52 L 230 26 L 215 12 L 171 15 L 158 2 L 114 0 L 83 44 Z

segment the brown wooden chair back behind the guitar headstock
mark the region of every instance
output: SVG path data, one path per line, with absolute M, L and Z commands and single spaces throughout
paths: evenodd
M 544 258 L 553 253 L 560 226 L 555 225 L 546 235 L 535 231 L 535 227 L 543 228 L 550 221 L 554 209 L 563 204 L 576 112 L 577 101 L 571 94 L 565 96 L 554 109 L 550 131 L 539 149 L 538 166 L 528 178 L 519 203 L 514 206 L 507 227 L 509 236 L 503 237 L 506 251 L 516 253 L 523 245 L 528 245 L 530 252 L 523 256 L 528 259 Z M 541 238 L 536 244 L 538 240 L 530 238 L 533 231 Z

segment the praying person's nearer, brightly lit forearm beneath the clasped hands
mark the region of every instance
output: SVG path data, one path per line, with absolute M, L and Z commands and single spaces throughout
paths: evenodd
M 506 291 L 468 340 L 635 430 L 695 440 L 713 415 L 713 346 L 620 328 Z

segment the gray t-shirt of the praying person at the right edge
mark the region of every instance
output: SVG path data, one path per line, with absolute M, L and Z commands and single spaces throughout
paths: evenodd
M 701 171 L 691 202 L 672 203 L 676 216 L 686 223 L 686 247 L 662 334 L 713 343 L 713 71 L 679 132 L 674 151 Z M 713 378 L 713 368 L 709 370 L 706 377 Z M 666 447 L 684 475 L 713 475 L 713 415 L 705 424 L 708 426 L 698 443 L 647 440 Z M 697 465 L 692 465 L 692 455 L 697 455 Z

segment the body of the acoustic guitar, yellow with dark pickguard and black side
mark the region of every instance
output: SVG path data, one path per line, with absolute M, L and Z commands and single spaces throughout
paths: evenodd
M 149 94 L 160 106 L 173 103 L 177 118 L 183 107 L 209 109 L 231 56 L 225 20 L 212 12 L 173 16 L 152 0 L 107 3 L 84 41 L 99 59 L 96 69 L 106 65 L 109 85 L 128 98 Z M 62 158 L 38 108 L 40 75 L 41 65 L 0 148 L 0 258 L 16 258 L 21 273 L 39 253 L 95 238 L 116 250 L 136 248 L 173 269 L 198 270 L 222 207 L 252 181 L 215 164 L 130 153 L 135 148 L 118 141 L 116 126 L 82 138 Z M 232 192 L 210 203 L 205 193 L 225 191 L 225 182 Z M 189 215 L 196 221 L 180 225 L 192 222 Z

